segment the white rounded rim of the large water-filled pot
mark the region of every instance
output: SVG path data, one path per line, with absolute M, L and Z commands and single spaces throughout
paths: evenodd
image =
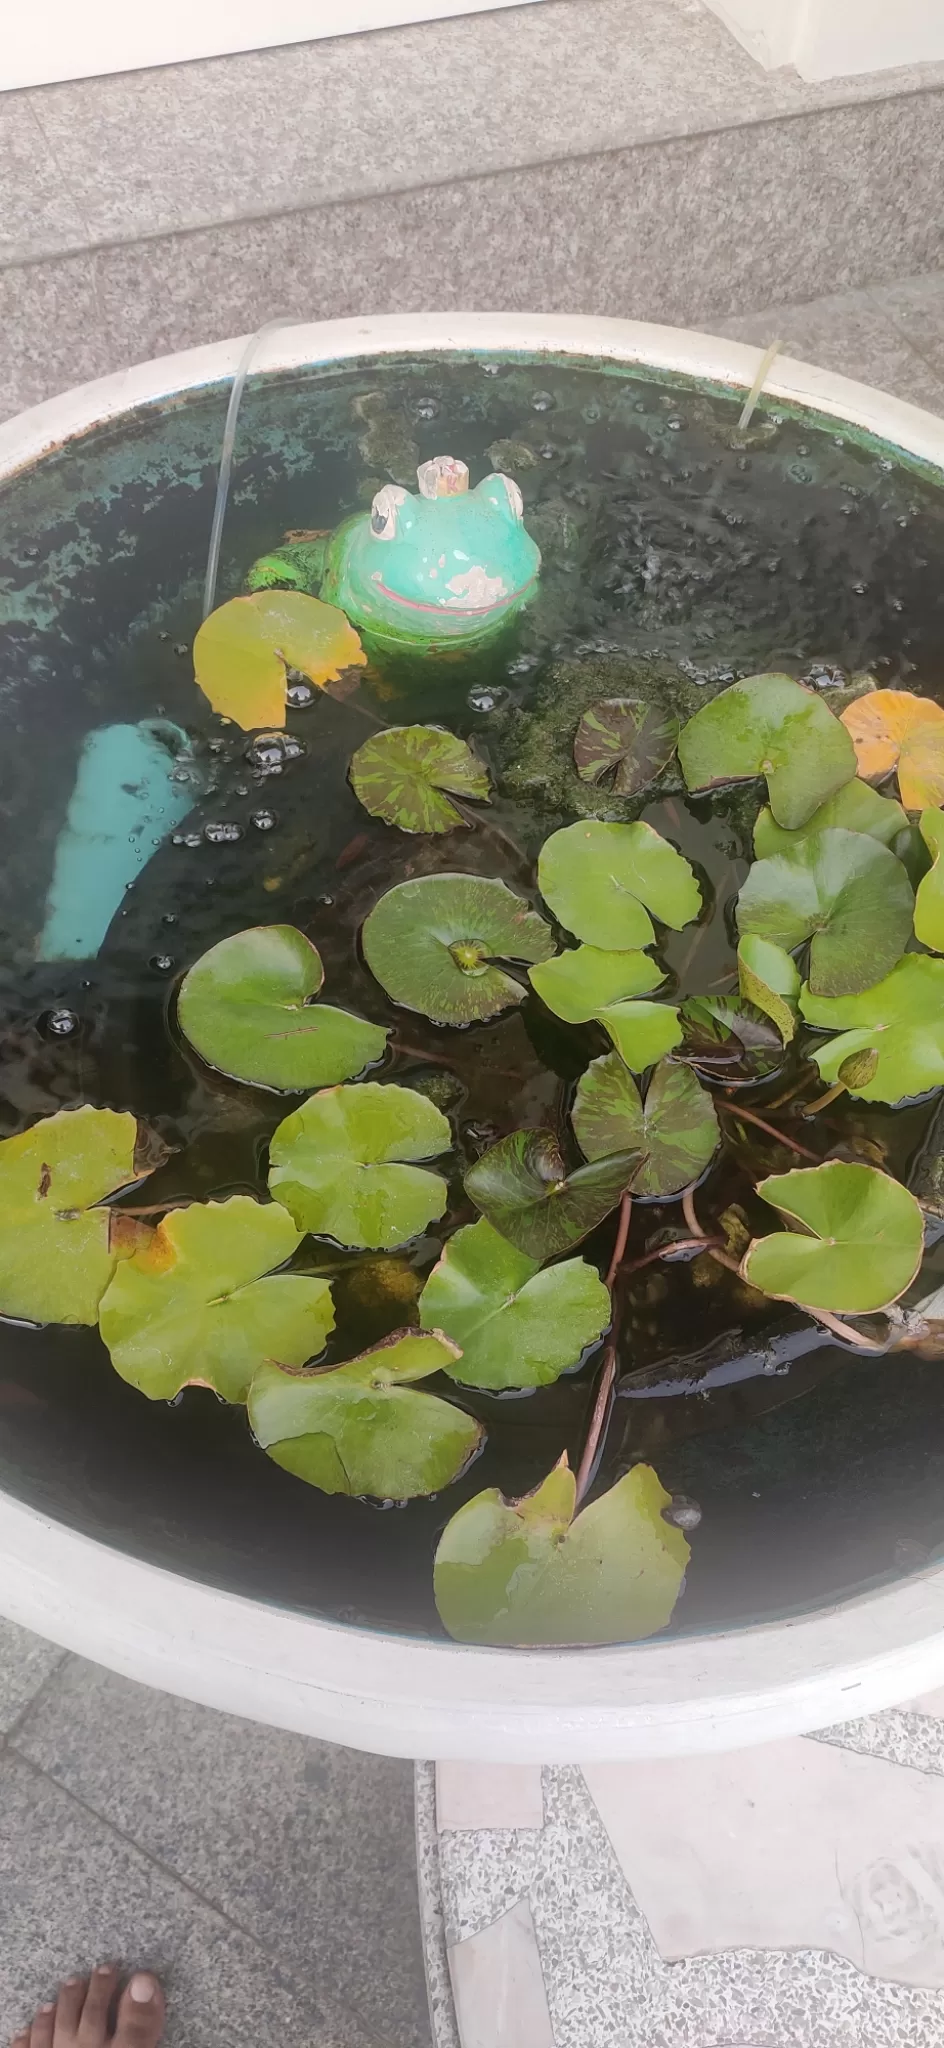
M 166 356 L 0 428 L 0 483 L 131 408 L 219 383 L 244 344 Z M 674 328 L 491 313 L 287 328 L 254 369 L 405 350 L 549 350 L 754 383 L 758 350 Z M 780 356 L 768 393 L 944 469 L 944 422 Z M 827 1610 L 602 1651 L 483 1651 L 356 1630 L 221 1593 L 0 1495 L 0 1612 L 166 1692 L 410 1757 L 680 1755 L 807 1733 L 944 1683 L 944 1569 Z

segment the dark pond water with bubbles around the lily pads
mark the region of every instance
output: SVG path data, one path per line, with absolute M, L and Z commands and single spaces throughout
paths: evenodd
M 246 758 L 192 684 L 190 643 L 213 508 L 223 389 L 90 434 L 0 496 L 0 1135 L 92 1100 L 131 1108 L 174 1147 L 149 1200 L 264 1192 L 287 1100 L 207 1071 L 178 1040 L 174 985 L 217 938 L 291 922 L 319 946 L 330 999 L 391 1024 L 387 1071 L 438 1079 L 457 1153 L 446 1229 L 471 1210 L 461 1167 L 494 1135 L 563 1120 L 594 1028 L 528 997 L 494 1026 L 436 1030 L 395 1012 L 358 956 L 377 897 L 410 872 L 504 874 L 534 895 L 543 838 L 588 801 L 573 723 L 600 694 L 682 715 L 739 674 L 788 670 L 833 702 L 860 670 L 944 696 L 944 494 L 895 451 L 835 422 L 637 375 L 541 362 L 412 360 L 266 379 L 246 393 L 219 596 L 291 528 L 328 528 L 420 459 L 461 457 L 473 481 L 514 475 L 545 551 L 543 592 L 510 637 L 448 664 L 377 657 L 356 696 L 291 709 L 299 752 L 278 774 Z M 371 821 L 350 754 L 389 723 L 473 737 L 498 786 L 502 846 L 481 831 L 412 842 Z M 164 715 L 195 748 L 195 807 L 125 895 L 94 961 L 39 965 L 55 836 L 86 733 Z M 688 803 L 672 774 L 637 807 L 696 864 L 706 913 L 659 958 L 682 991 L 731 985 L 731 903 L 758 793 Z M 262 817 L 262 825 L 260 825 Z M 215 825 L 235 825 L 221 840 Z M 209 829 L 207 829 L 209 827 Z M 672 985 L 670 985 L 672 989 Z M 670 993 L 670 989 L 666 993 Z M 57 1036 L 51 1016 L 76 1028 Z M 749 1094 L 758 1110 L 776 1083 Z M 829 1141 L 870 1141 L 903 1178 L 932 1104 L 840 1104 Z M 727 1141 L 702 1221 L 737 1204 L 768 1219 L 752 1176 L 786 1165 L 760 1133 Z M 678 1221 L 637 1206 L 635 1253 Z M 311 1239 L 330 1270 L 330 1356 L 410 1321 L 442 1237 L 385 1262 Z M 586 1247 L 602 1266 L 612 1223 Z M 694 1495 L 702 1524 L 676 1628 L 797 1610 L 924 1563 L 944 1544 L 942 1368 L 823 1343 L 721 1268 L 655 1266 L 633 1282 L 602 1479 L 639 1456 Z M 930 1253 L 921 1288 L 944 1278 Z M 0 1327 L 0 1483 L 139 1556 L 287 1606 L 438 1632 L 432 1552 L 461 1499 L 532 1487 L 567 1446 L 580 1460 L 600 1354 L 530 1397 L 461 1395 L 487 1421 L 448 1497 L 379 1509 L 326 1499 L 270 1464 L 246 1415 L 205 1391 L 152 1405 L 96 1333 Z

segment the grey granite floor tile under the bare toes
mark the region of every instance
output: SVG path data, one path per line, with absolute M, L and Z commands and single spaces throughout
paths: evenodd
M 342 2001 L 299 1993 L 254 1939 L 10 1751 L 0 1759 L 0 1927 L 4 2040 L 61 1976 L 113 1960 L 162 1978 L 166 2048 L 377 2048 Z M 393 2048 L 395 2036 L 381 2040 Z

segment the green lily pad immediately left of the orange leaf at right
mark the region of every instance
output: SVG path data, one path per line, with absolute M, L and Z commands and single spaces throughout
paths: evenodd
M 856 774 L 856 748 L 829 707 L 792 676 L 747 676 L 682 727 L 690 791 L 766 776 L 778 825 L 797 831 Z

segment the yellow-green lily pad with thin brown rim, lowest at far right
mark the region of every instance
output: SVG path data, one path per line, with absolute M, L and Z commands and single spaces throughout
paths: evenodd
M 799 1231 L 756 1237 L 741 1262 L 749 1286 L 801 1309 L 870 1315 L 911 1286 L 924 1251 L 913 1194 L 874 1165 L 825 1165 L 772 1174 L 758 1184 Z

